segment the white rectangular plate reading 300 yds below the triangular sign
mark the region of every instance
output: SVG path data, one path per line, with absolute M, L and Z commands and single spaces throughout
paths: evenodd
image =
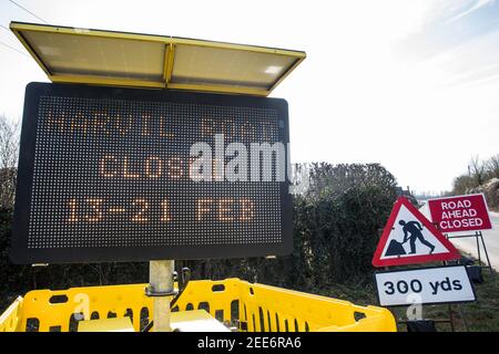
M 381 306 L 476 301 L 465 266 L 375 273 Z

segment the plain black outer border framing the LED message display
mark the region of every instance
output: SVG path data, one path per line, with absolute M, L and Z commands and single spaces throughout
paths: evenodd
M 35 138 L 39 123 L 38 100 L 42 95 L 78 97 L 119 97 L 120 100 L 164 101 L 204 103 L 212 105 L 240 105 L 246 107 L 273 107 L 278 110 L 284 122 L 284 144 L 288 143 L 287 103 L 281 98 L 264 98 L 241 95 L 217 95 L 194 92 L 173 92 L 163 90 L 138 90 L 120 87 L 98 87 L 72 84 L 31 83 L 27 86 L 24 113 L 21 132 L 19 174 L 17 185 L 11 259 L 16 263 L 64 263 L 102 261 L 145 261 L 160 259 L 242 258 L 254 256 L 288 254 L 293 250 L 293 201 L 288 183 L 279 183 L 282 242 L 262 244 L 217 244 L 217 246 L 175 246 L 138 248 L 93 248 L 85 249 L 28 249 L 28 228 L 33 188 Z M 286 156 L 287 163 L 288 156 Z M 287 174 L 287 171 L 286 171 Z M 286 180 L 288 180 L 286 178 Z

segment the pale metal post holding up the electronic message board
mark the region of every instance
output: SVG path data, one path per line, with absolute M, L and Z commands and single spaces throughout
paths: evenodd
M 172 332 L 170 326 L 170 298 L 175 294 L 173 271 L 175 261 L 162 260 L 149 262 L 149 288 L 146 294 L 153 296 L 154 332 Z

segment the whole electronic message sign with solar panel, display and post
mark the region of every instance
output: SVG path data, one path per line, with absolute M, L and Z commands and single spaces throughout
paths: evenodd
M 266 96 L 305 52 L 10 28 L 49 79 L 64 83 L 26 90 L 13 263 L 150 261 L 147 327 L 164 332 L 173 259 L 292 252 L 287 103 Z M 84 64 L 67 35 L 85 46 Z M 43 43 L 61 53 L 58 63 L 32 50 Z M 147 55 L 136 55 L 139 48 Z M 64 70 L 52 70 L 58 65 Z

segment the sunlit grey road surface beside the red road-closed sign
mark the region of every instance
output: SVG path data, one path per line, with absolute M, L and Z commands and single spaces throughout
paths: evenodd
M 499 212 L 490 211 L 490 221 L 492 221 L 493 229 L 482 231 L 483 241 L 487 246 L 487 251 L 489 252 L 490 263 L 492 264 L 492 268 L 499 271 Z M 476 240 L 476 238 L 471 237 L 466 239 L 451 239 L 452 243 L 458 249 L 472 254 L 475 258 L 478 258 Z M 482 261 L 486 261 L 482 248 L 481 259 Z

